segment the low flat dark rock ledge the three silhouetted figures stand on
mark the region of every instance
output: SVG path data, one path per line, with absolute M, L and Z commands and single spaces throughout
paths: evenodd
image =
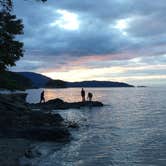
M 31 109 L 41 110 L 57 110 L 57 109 L 70 109 L 81 107 L 102 107 L 103 103 L 99 101 L 85 101 L 85 102 L 65 102 L 59 98 L 49 100 L 45 103 L 29 104 Z

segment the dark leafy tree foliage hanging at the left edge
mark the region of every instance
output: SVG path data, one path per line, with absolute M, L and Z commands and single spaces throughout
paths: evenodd
M 23 24 L 15 15 L 3 10 L 0 12 L 0 71 L 14 66 L 23 56 L 23 43 L 15 40 L 23 34 Z

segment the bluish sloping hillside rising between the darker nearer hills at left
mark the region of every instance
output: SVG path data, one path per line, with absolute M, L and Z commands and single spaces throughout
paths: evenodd
M 42 74 L 33 73 L 33 72 L 18 72 L 18 74 L 30 79 L 35 88 L 45 87 L 45 85 L 52 79 L 46 77 Z

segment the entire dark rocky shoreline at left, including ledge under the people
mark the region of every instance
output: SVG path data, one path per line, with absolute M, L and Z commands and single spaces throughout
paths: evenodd
M 25 93 L 0 94 L 0 163 L 3 165 L 18 166 L 18 159 L 26 155 L 31 141 L 71 140 L 69 127 L 78 125 L 66 123 L 59 114 L 52 114 L 51 110 L 103 106 L 100 102 L 67 103 L 61 99 L 28 104 L 26 96 Z

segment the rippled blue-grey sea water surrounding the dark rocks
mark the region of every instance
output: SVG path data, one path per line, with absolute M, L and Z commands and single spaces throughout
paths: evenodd
M 165 166 L 166 88 L 85 88 L 104 107 L 57 110 L 79 124 L 67 144 L 38 142 L 33 166 Z M 40 92 L 28 90 L 28 102 Z M 46 99 L 79 101 L 80 88 L 45 89 Z

